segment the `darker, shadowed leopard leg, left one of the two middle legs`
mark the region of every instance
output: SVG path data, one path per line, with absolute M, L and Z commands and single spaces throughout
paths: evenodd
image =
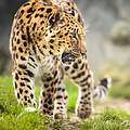
M 48 117 L 54 117 L 55 92 L 58 84 L 58 64 L 50 69 L 47 76 L 41 77 L 43 86 L 39 99 L 39 112 Z

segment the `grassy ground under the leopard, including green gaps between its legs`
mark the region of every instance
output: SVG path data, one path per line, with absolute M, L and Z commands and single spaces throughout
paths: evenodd
M 68 115 L 75 110 L 78 89 L 66 80 L 69 95 Z M 36 89 L 38 101 L 39 88 Z M 24 108 L 17 104 L 14 96 L 12 78 L 0 76 L 0 130 L 46 130 L 46 129 L 81 129 L 81 130 L 130 130 L 130 116 L 120 110 L 106 109 L 101 115 L 94 115 L 88 121 L 76 120 L 70 125 L 69 118 L 64 125 L 63 120 L 52 121 L 37 112 L 23 113 Z M 78 127 L 77 127 L 78 125 Z M 66 129 L 66 127 L 68 127 Z

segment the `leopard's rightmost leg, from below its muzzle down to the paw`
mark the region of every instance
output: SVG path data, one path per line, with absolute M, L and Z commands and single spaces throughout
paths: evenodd
M 93 109 L 92 101 L 92 86 L 93 77 L 91 70 L 88 68 L 86 56 L 75 58 L 73 62 L 64 62 L 64 69 L 66 74 L 79 87 L 79 95 L 76 105 L 76 114 L 81 119 L 88 118 Z

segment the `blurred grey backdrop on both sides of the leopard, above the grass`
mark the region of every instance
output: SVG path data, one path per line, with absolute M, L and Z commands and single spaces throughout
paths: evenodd
M 27 0 L 0 0 L 0 72 L 10 63 L 11 25 L 15 12 L 25 1 Z M 74 1 L 84 17 L 91 69 L 98 74 L 108 61 L 129 66 L 130 0 Z

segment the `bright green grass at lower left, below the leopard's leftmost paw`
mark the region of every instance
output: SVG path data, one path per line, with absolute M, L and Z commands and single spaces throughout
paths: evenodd
M 39 89 L 36 89 L 38 99 Z M 0 77 L 0 130 L 46 130 L 58 128 L 61 121 L 52 123 L 51 119 L 37 112 L 23 113 L 24 107 L 17 104 L 11 77 Z

